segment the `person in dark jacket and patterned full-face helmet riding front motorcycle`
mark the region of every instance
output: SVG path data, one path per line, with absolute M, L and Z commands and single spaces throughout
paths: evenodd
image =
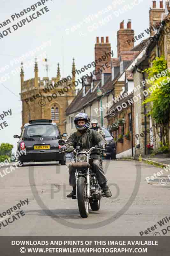
M 62 146 L 62 151 L 67 150 L 67 147 L 70 146 L 73 146 L 74 148 L 76 148 L 76 146 L 80 146 L 81 151 L 87 151 L 95 145 L 98 145 L 99 148 L 103 149 L 106 147 L 107 143 L 102 135 L 93 129 L 88 129 L 90 125 L 90 118 L 87 114 L 77 114 L 74 118 L 74 124 L 77 132 L 70 135 L 68 140 Z M 106 197 L 112 196 L 112 193 L 107 186 L 107 179 L 102 168 L 101 151 L 99 149 L 93 150 L 91 157 L 93 158 L 92 170 L 96 173 L 100 187 L 102 188 Z M 67 197 L 72 197 L 76 195 L 76 181 L 75 170 L 71 168 L 71 165 L 69 165 L 69 174 L 69 182 L 70 185 L 73 186 L 73 190 L 69 195 L 67 195 Z

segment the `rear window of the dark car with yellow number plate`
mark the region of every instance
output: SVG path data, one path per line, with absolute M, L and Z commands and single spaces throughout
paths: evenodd
M 24 137 L 60 137 L 59 131 L 55 125 L 36 124 L 26 127 Z

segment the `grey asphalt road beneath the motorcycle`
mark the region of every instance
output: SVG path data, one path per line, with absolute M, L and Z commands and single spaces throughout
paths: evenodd
M 103 164 L 113 196 L 103 198 L 100 210 L 90 211 L 86 219 L 79 215 L 77 200 L 66 198 L 71 191 L 66 166 L 30 165 L 0 177 L 1 214 L 20 200 L 29 200 L 19 210 L 25 215 L 1 226 L 0 236 L 139 236 L 139 232 L 170 216 L 170 182 L 159 182 L 168 173 L 163 172 L 148 184 L 145 178 L 159 172 L 159 168 L 135 161 Z M 0 221 L 5 223 L 9 217 L 6 215 Z M 162 236 L 161 229 L 157 224 L 149 235 L 159 232 Z

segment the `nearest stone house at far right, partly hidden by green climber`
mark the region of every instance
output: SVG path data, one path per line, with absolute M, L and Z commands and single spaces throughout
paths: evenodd
M 139 134 L 139 136 L 135 137 L 136 155 L 146 155 L 148 153 L 148 144 L 153 144 L 154 151 L 157 151 L 162 141 L 160 125 L 156 124 L 155 120 L 147 115 L 150 111 L 150 104 L 142 104 L 147 97 L 147 93 L 144 93 L 144 91 L 148 91 L 151 86 L 147 84 L 147 80 L 146 83 L 142 83 L 142 81 L 148 78 L 148 74 L 144 72 L 144 69 L 152 67 L 153 60 L 162 55 L 165 56 L 167 66 L 170 68 L 170 34 L 167 33 L 170 32 L 169 2 L 166 2 L 165 9 L 162 7 L 162 1 L 160 1 L 160 8 L 158 9 L 156 8 L 156 1 L 153 1 L 153 7 L 150 9 L 150 25 L 153 25 L 153 21 L 157 21 L 157 24 L 159 22 L 159 28 L 157 33 L 153 34 L 153 31 L 151 31 L 153 39 L 148 40 L 147 47 L 141 52 L 137 62 L 133 63 L 132 68 L 134 86 L 140 85 L 141 95 L 141 99 L 134 103 L 135 134 Z M 162 21 L 163 25 L 160 26 L 160 22 Z M 134 95 L 136 94 L 137 93 L 134 92 Z M 165 140 L 169 140 L 169 135 L 170 133 L 166 134 Z

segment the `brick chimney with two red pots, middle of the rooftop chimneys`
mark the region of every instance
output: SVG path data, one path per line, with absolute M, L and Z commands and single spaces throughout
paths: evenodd
M 132 39 L 134 38 L 134 30 L 131 29 L 131 20 L 128 20 L 127 28 L 124 28 L 124 21 L 120 23 L 120 29 L 117 31 L 117 57 L 121 56 L 121 52 L 130 51 L 134 47 Z M 127 40 L 130 39 L 130 43 Z

